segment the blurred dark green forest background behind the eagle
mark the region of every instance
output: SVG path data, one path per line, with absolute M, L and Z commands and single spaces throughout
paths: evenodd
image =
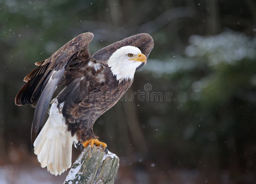
M 155 47 L 127 94 L 147 83 L 172 93 L 120 101 L 95 123 L 120 157 L 115 183 L 256 183 L 254 0 L 0 0 L 1 184 L 63 183 L 67 172 L 47 173 L 31 150 L 34 108 L 14 98 L 35 62 L 87 31 L 91 54 L 150 34 Z

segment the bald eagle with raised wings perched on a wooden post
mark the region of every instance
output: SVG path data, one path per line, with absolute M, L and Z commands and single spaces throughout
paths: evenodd
M 15 98 L 16 105 L 36 108 L 31 142 L 41 166 L 54 175 L 71 167 L 73 143 L 80 148 L 107 147 L 93 133 L 93 124 L 132 85 L 135 71 L 146 63 L 154 47 L 149 34 L 137 34 L 91 56 L 88 46 L 93 36 L 79 34 L 48 59 L 36 62 L 38 67 L 24 78 L 27 83 Z M 64 88 L 52 99 L 61 84 Z

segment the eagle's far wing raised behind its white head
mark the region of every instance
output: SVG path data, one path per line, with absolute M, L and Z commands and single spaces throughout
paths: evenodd
M 98 50 L 92 55 L 92 57 L 100 62 L 106 63 L 109 57 L 117 49 L 127 45 L 138 47 L 141 53 L 148 58 L 151 50 L 154 47 L 154 41 L 153 38 L 147 33 L 136 34 Z M 143 65 L 144 63 L 142 63 L 137 69 L 141 68 Z

